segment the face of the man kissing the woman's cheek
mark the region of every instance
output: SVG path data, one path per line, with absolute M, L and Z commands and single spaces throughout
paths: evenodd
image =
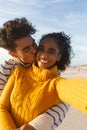
M 36 60 L 37 45 L 31 36 L 15 40 L 17 45 L 13 56 L 24 63 L 32 64 Z

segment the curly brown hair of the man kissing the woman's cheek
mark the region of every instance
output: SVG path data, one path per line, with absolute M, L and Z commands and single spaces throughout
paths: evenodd
M 32 35 L 35 32 L 35 27 L 25 17 L 9 20 L 0 28 L 0 47 L 15 50 L 15 40 Z

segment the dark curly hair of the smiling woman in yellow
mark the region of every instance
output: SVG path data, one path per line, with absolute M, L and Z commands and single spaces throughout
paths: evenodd
M 62 56 L 60 61 L 56 62 L 56 65 L 60 71 L 63 71 L 71 63 L 71 58 L 74 56 L 71 46 L 71 38 L 64 32 L 53 32 L 43 35 L 39 41 L 39 44 L 48 38 L 53 39 L 58 45 L 58 49 L 60 50 Z

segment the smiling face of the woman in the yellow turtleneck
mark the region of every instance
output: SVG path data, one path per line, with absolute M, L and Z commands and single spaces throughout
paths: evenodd
M 60 58 L 61 54 L 57 43 L 51 38 L 42 40 L 37 53 L 38 67 L 48 69 L 55 65 Z

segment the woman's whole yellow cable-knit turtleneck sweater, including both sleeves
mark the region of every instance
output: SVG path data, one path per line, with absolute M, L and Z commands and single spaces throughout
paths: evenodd
M 87 80 L 58 77 L 57 67 L 16 68 L 0 98 L 0 130 L 14 130 L 61 100 L 87 113 Z

